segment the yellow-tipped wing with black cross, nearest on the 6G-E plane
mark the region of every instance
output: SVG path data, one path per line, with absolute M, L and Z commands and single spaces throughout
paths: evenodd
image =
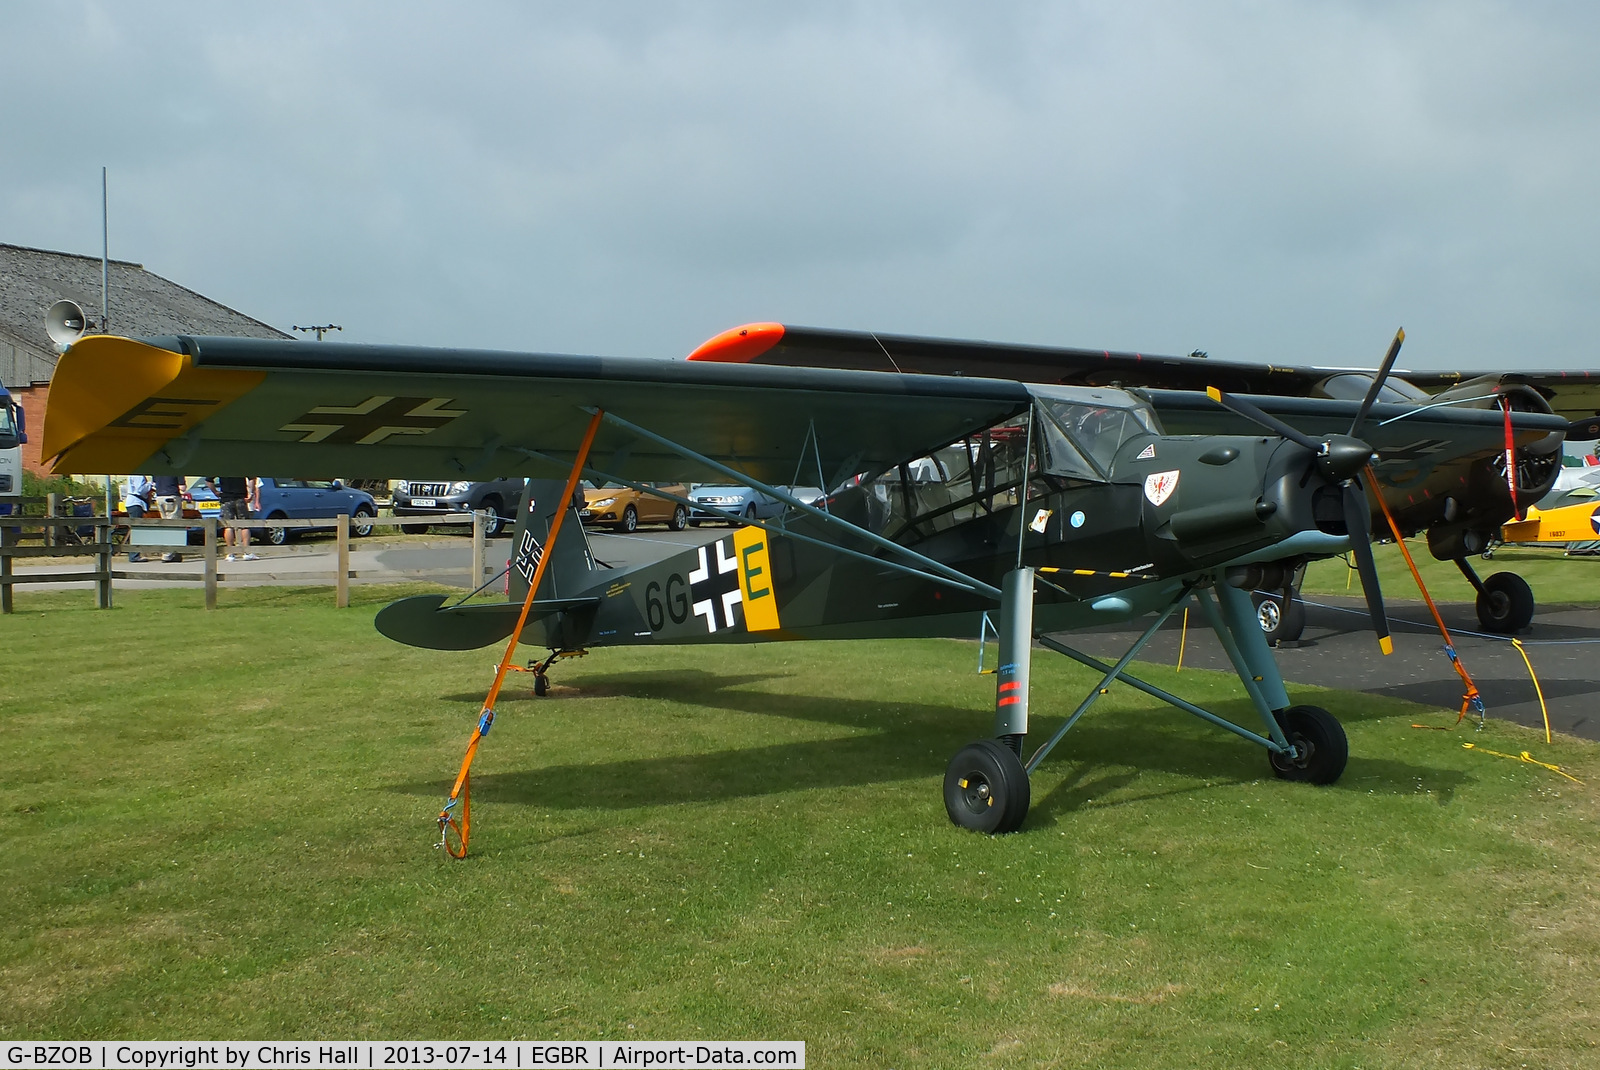
M 878 472 L 1022 413 L 1018 382 L 403 345 L 94 336 L 51 379 L 56 472 L 547 477 L 592 409 L 770 483 Z M 704 478 L 608 424 L 597 467 Z

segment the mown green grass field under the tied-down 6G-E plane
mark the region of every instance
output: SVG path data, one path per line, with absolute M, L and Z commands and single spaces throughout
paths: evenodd
M 1013 836 L 954 828 L 950 641 L 597 651 L 507 693 L 392 590 L 19 595 L 0 1041 L 790 1038 L 813 1067 L 1600 1065 L 1600 749 L 1293 691 L 1331 789 L 1114 688 Z M 1149 677 L 1235 718 L 1230 678 Z M 1035 733 L 1088 685 L 1034 667 Z M 1464 750 L 1531 749 L 1546 769 Z

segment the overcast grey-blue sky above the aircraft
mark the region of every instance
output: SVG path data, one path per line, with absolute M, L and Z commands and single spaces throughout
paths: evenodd
M 3 3 L 0 242 L 344 341 L 1600 366 L 1600 5 Z

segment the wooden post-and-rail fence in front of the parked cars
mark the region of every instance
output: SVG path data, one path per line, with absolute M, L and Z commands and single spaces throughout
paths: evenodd
M 54 502 L 51 504 L 54 505 Z M 483 582 L 485 561 L 488 557 L 488 539 L 485 537 L 486 513 L 445 513 L 442 517 L 429 517 L 429 523 L 470 523 L 472 525 L 472 565 L 470 574 L 472 587 Z M 362 526 L 373 528 L 397 528 L 405 525 L 418 523 L 416 517 L 362 517 Z M 221 528 L 250 528 L 259 529 L 267 526 L 259 518 L 251 520 L 221 520 L 216 517 L 205 518 L 174 518 L 165 520 L 158 517 L 144 517 L 139 520 L 130 520 L 126 517 L 0 517 L 0 613 L 13 613 L 11 592 L 18 584 L 61 584 L 61 582 L 85 582 L 94 581 L 96 601 L 101 609 L 109 609 L 112 606 L 112 582 L 118 579 L 160 579 L 160 581 L 178 581 L 178 582 L 200 582 L 205 584 L 205 608 L 216 609 L 216 589 L 218 584 L 227 581 L 227 574 L 218 571 L 218 531 Z M 328 576 L 328 581 L 334 589 L 334 605 L 341 609 L 350 605 L 350 581 L 373 577 L 374 573 L 366 574 L 355 573 L 350 569 L 350 517 L 341 513 L 338 517 L 314 517 L 304 520 L 274 520 L 274 528 L 333 528 L 336 537 L 336 563 Z M 82 529 L 88 528 L 90 536 L 85 537 Z M 126 528 L 130 531 L 130 539 L 126 544 L 117 541 L 115 534 L 118 529 Z M 150 529 L 182 529 L 184 536 L 181 539 L 170 537 L 160 539 L 158 536 L 150 539 L 138 539 L 133 531 L 150 531 Z M 202 544 L 202 561 L 203 569 L 198 576 L 187 573 L 168 573 L 168 571 L 130 571 L 112 568 L 112 563 L 125 549 L 139 549 L 139 545 L 147 545 L 154 552 L 162 552 L 163 549 L 174 549 L 178 545 L 187 544 L 187 531 L 190 528 L 202 528 L 205 539 Z M 30 545 L 37 544 L 37 545 Z M 72 558 L 72 557 L 93 557 L 94 566 L 91 569 L 80 569 L 72 573 L 16 573 L 13 561 L 18 558 Z M 459 574 L 461 569 L 414 569 L 406 573 L 408 576 L 424 576 L 424 574 Z M 256 573 L 258 574 L 258 573 Z M 306 582 L 315 582 L 318 573 L 296 573 L 296 579 L 306 577 Z

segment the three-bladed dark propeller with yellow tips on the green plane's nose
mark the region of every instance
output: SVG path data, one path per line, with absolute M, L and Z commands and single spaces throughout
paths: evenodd
M 1362 593 L 1366 595 L 1366 613 L 1373 619 L 1373 632 L 1378 635 L 1378 649 L 1384 654 L 1394 653 L 1394 640 L 1389 637 L 1389 616 L 1384 613 L 1384 592 L 1378 585 L 1378 563 L 1373 560 L 1373 533 L 1371 533 L 1371 509 L 1366 505 L 1366 486 L 1362 481 L 1362 472 L 1371 472 L 1368 465 L 1378 456 L 1378 453 L 1365 441 L 1358 438 L 1362 424 L 1366 422 L 1368 413 L 1371 413 L 1373 403 L 1378 400 L 1379 392 L 1384 389 L 1384 381 L 1394 369 L 1395 357 L 1400 355 L 1400 344 L 1405 342 L 1405 328 L 1395 331 L 1394 342 L 1389 344 L 1389 352 L 1384 355 L 1382 365 L 1378 368 L 1378 374 L 1373 376 L 1373 385 L 1366 390 L 1366 397 L 1362 398 L 1362 405 L 1355 409 L 1355 419 L 1350 421 L 1350 430 L 1344 435 L 1328 435 L 1326 438 L 1312 438 L 1306 432 L 1290 427 L 1277 416 L 1264 413 L 1259 406 L 1245 398 L 1232 397 L 1216 387 L 1206 387 L 1206 395 L 1218 405 L 1238 413 L 1248 421 L 1266 427 L 1272 433 L 1286 438 L 1306 449 L 1310 449 L 1317 461 L 1317 469 L 1330 481 L 1339 485 L 1341 505 L 1344 507 L 1344 528 L 1350 536 L 1350 552 L 1355 555 L 1355 571 L 1362 577 Z M 1376 488 L 1373 493 L 1379 493 Z

